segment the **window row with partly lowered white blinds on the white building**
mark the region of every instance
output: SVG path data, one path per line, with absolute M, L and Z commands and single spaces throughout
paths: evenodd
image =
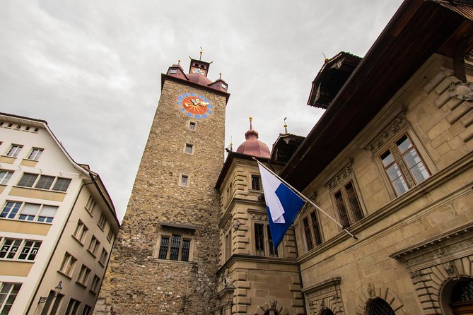
M 23 208 L 21 208 L 22 205 Z M 18 213 L 20 208 L 21 211 Z M 51 223 L 57 213 L 57 209 L 57 206 L 6 201 L 4 210 L 0 213 L 0 218 Z

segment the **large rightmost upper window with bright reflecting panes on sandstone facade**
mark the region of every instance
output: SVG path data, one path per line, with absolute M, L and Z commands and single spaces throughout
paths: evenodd
M 392 143 L 380 159 L 396 196 L 401 196 L 431 176 L 416 147 L 405 134 Z

